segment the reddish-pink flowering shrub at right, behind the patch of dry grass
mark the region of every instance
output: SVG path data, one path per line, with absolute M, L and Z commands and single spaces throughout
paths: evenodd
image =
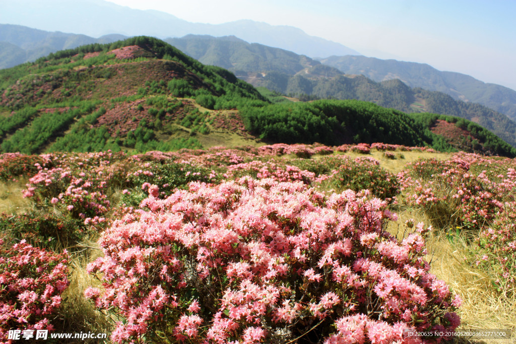
M 412 163 L 408 171 L 398 174 L 402 188 L 410 191 L 408 203 L 423 207 L 440 227 L 479 231 L 489 225 L 502 209 L 504 195 L 484 171 L 477 175 L 470 172 L 472 162 L 483 161 L 455 155 L 446 161 L 426 159 Z

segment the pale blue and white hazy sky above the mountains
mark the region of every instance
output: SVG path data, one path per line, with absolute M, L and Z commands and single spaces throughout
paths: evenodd
M 194 23 L 295 26 L 369 57 L 428 63 L 516 90 L 515 0 L 108 0 Z

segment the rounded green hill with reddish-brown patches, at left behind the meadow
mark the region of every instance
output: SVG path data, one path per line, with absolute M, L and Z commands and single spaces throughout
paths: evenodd
M 198 104 L 264 101 L 233 74 L 147 37 L 61 51 L 0 75 L 4 152 L 197 148 L 208 126 L 241 131 L 231 112 L 208 118 Z

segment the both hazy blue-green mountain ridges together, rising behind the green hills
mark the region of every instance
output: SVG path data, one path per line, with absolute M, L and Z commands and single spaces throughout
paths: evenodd
M 364 56 L 317 61 L 279 48 L 249 44 L 236 37 L 188 35 L 165 41 L 202 63 L 234 72 L 254 86 L 285 94 L 359 99 L 406 112 L 449 114 L 470 119 L 495 132 L 495 126 L 500 126 L 500 129 L 506 127 L 511 132 L 510 136 L 516 129 L 513 123 L 516 120 L 516 91 L 485 84 L 468 75 L 441 72 L 427 64 Z M 327 63 L 327 60 L 333 63 L 340 61 L 338 59 L 360 61 L 362 64 L 361 67 L 357 67 L 359 62 L 350 64 L 352 69 L 343 72 L 344 64 L 332 67 Z M 393 72 L 388 72 L 390 65 L 394 66 Z M 396 82 L 396 79 L 403 83 Z M 415 89 L 411 90 L 411 87 Z M 490 125 L 481 118 L 492 118 L 497 124 Z M 500 132 L 497 135 L 504 136 Z

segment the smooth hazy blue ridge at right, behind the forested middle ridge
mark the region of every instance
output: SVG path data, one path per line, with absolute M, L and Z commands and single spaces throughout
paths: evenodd
M 455 100 L 479 103 L 516 120 L 516 91 L 501 85 L 483 83 L 469 75 L 442 72 L 424 63 L 365 56 L 331 56 L 319 61 L 343 73 L 365 75 L 378 82 L 400 79 L 410 87 L 439 91 Z

